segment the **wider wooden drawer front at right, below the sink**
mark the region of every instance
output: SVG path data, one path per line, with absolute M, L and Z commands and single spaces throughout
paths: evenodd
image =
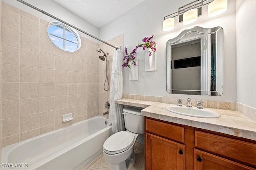
M 195 131 L 195 147 L 256 166 L 256 145 L 253 143 Z

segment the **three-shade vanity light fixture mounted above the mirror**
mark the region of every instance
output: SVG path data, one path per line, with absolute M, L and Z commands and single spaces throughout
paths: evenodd
M 195 0 L 178 8 L 178 12 L 164 17 L 163 31 L 174 29 L 175 17 L 179 17 L 179 23 L 188 25 L 195 22 L 202 15 L 202 6 L 208 5 L 208 16 L 216 16 L 227 10 L 228 0 Z

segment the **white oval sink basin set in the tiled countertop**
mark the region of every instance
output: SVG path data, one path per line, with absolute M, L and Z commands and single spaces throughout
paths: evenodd
M 186 107 L 186 106 L 167 106 L 165 108 L 168 111 L 177 113 L 180 115 L 192 116 L 192 117 L 202 117 L 202 118 L 217 118 L 220 114 L 206 109 L 198 109 L 196 107 Z

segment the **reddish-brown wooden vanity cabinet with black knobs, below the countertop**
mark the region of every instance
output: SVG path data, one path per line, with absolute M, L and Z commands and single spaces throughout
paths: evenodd
M 256 141 L 145 117 L 146 170 L 255 170 Z

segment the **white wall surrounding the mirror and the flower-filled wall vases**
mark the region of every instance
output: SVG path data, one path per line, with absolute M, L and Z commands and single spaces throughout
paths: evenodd
M 142 2 L 132 10 L 126 12 L 116 20 L 100 28 L 100 38 L 110 39 L 124 33 L 124 47 L 130 52 L 142 42 L 141 39 L 155 35 L 157 45 L 157 70 L 144 71 L 144 55 L 138 50 L 139 80 L 129 81 L 129 69 L 124 68 L 124 93 L 149 96 L 169 96 L 182 98 L 200 98 L 220 101 L 236 101 L 236 2 L 228 1 L 228 10 L 216 17 L 208 18 L 207 6 L 203 7 L 202 16 L 198 21 L 188 26 L 178 23 L 172 31 L 163 32 L 164 16 L 178 11 L 178 8 L 188 4 L 188 0 L 149 0 Z M 224 94 L 222 96 L 188 96 L 168 94 L 166 92 L 166 41 L 176 37 L 181 31 L 191 26 L 216 27 L 224 29 Z

